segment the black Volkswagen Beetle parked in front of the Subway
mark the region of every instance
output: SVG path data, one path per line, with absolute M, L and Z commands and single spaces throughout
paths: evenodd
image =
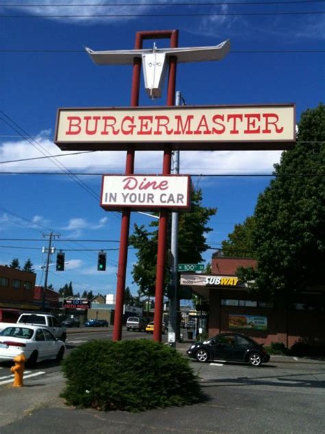
M 269 361 L 262 345 L 240 333 L 221 333 L 204 342 L 195 342 L 187 354 L 198 362 L 218 360 L 260 366 Z

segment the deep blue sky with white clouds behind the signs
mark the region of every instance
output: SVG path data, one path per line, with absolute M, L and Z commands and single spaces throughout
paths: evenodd
M 325 2 L 231 5 L 219 1 L 212 6 L 201 1 L 202 5 L 181 6 L 180 1 L 134 0 L 104 6 L 112 1 L 75 0 L 58 6 L 67 3 L 1 1 L 0 264 L 19 258 L 23 265 L 30 258 L 37 284 L 44 284 L 40 266 L 46 259 L 42 247 L 47 238 L 43 234 L 60 233 L 53 245 L 66 252 L 69 264 L 64 272 L 50 266 L 48 283 L 58 289 L 71 281 L 75 292 L 106 295 L 115 293 L 120 215 L 99 207 L 101 176 L 93 174 L 122 174 L 125 152 L 64 155 L 53 144 L 53 133 L 59 107 L 130 105 L 132 67 L 98 67 L 83 47 L 132 49 L 139 30 L 178 29 L 180 47 L 217 45 L 230 38 L 230 54 L 221 62 L 178 65 L 176 89 L 186 104 L 293 102 L 299 120 L 303 111 L 324 102 Z M 169 41 L 156 43 L 164 47 Z M 141 82 L 140 105 L 165 101 L 164 93 L 161 100 L 151 102 Z M 49 155 L 64 156 L 39 158 Z M 17 161 L 23 159 L 30 160 Z M 268 174 L 279 159 L 278 151 L 181 152 L 180 171 Z M 161 167 L 160 152 L 136 152 L 136 172 L 158 174 Z M 63 174 L 67 170 L 88 176 L 71 178 Z M 204 205 L 218 208 L 207 238 L 211 247 L 220 247 L 234 224 L 252 215 L 269 180 L 267 176 L 193 176 L 193 184 L 203 190 Z M 147 225 L 149 221 L 132 213 L 131 229 L 134 222 Z M 107 251 L 106 272 L 97 271 L 100 249 Z M 204 258 L 209 260 L 212 253 L 207 251 Z M 133 293 L 136 286 L 130 272 L 135 260 L 130 249 L 126 283 Z

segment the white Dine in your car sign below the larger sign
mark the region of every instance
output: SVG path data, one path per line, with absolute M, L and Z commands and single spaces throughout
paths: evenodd
M 191 179 L 186 175 L 104 175 L 101 207 L 108 211 L 189 209 Z

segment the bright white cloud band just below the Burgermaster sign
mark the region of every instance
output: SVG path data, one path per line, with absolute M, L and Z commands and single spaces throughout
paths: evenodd
M 1 170 L 3 172 L 60 172 L 60 168 L 62 171 L 68 168 L 71 171 L 86 173 L 123 173 L 125 169 L 125 152 L 99 151 L 67 155 L 67 152 L 60 151 L 46 137 L 39 137 L 38 144 L 51 152 L 51 155 L 62 155 L 62 157 L 3 163 Z M 103 152 L 105 152 L 105 158 L 103 158 Z M 40 156 L 42 156 L 40 151 L 33 148 L 25 140 L 5 141 L 0 145 L 0 161 L 30 159 Z M 273 164 L 278 163 L 279 159 L 280 151 L 182 151 L 180 152 L 180 168 L 182 172 L 193 174 L 272 172 Z M 58 164 L 60 164 L 60 168 L 58 168 Z M 158 174 L 161 172 L 162 166 L 163 152 L 136 152 L 136 172 Z M 69 180 L 70 178 L 67 176 L 65 179 Z M 84 229 L 86 226 L 91 229 L 99 229 L 105 223 L 105 219 L 101 219 L 96 224 L 89 224 L 86 220 L 75 218 L 71 219 L 69 225 L 64 229 Z

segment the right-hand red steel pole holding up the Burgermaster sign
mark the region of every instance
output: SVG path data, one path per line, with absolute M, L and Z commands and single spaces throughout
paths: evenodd
M 170 36 L 170 47 L 178 47 L 178 30 L 173 30 Z M 169 78 L 167 89 L 167 106 L 175 104 L 176 91 L 176 65 L 177 58 L 171 56 L 169 58 Z M 165 145 L 163 157 L 163 174 L 167 175 L 171 172 L 171 146 Z M 154 341 L 161 341 L 161 327 L 163 321 L 163 299 L 165 287 L 165 262 L 166 262 L 166 241 L 167 241 L 167 226 L 168 212 L 163 210 L 160 212 L 159 229 L 158 229 L 158 255 L 157 255 L 157 272 L 156 272 L 156 293 L 155 293 L 155 308 L 154 308 Z

